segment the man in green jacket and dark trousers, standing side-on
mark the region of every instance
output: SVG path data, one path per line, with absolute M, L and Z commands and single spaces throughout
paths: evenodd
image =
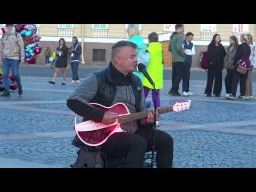
M 169 51 L 172 52 L 172 88 L 168 92 L 172 96 L 180 96 L 179 85 L 183 77 L 184 71 L 184 47 L 182 47 L 182 34 L 184 33 L 184 25 L 176 24 L 175 31 L 170 37 Z

